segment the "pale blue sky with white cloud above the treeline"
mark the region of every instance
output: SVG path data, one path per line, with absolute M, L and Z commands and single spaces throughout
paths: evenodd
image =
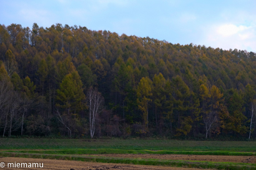
M 119 35 L 256 52 L 256 1 L 0 0 L 0 24 L 86 26 Z

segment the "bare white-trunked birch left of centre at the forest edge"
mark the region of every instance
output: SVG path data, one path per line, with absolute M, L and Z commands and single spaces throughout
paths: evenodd
M 90 119 L 90 135 L 91 138 L 94 136 L 95 131 L 95 120 L 97 115 L 101 113 L 104 105 L 104 98 L 97 89 L 89 88 L 87 92 L 87 105 L 89 106 L 89 119 Z

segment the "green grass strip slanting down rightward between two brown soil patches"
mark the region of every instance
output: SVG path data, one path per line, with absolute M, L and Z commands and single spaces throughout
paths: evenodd
M 71 155 L 55 155 L 55 154 L 26 154 L 26 153 L 0 153 L 3 157 L 18 158 L 39 158 L 39 159 L 61 159 L 70 161 L 86 161 L 95 163 L 117 163 L 117 164 L 140 164 L 154 166 L 171 166 L 171 167 L 187 167 L 187 168 L 215 168 L 215 169 L 237 169 L 237 170 L 256 170 L 256 164 L 246 163 L 214 163 L 205 161 L 172 161 L 161 159 L 121 159 L 121 158 L 96 158 L 90 156 L 71 156 Z

